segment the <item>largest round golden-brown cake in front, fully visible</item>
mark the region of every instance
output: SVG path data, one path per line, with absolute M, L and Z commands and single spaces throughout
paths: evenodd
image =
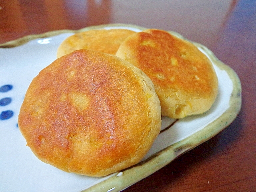
M 18 126 L 43 162 L 105 176 L 138 163 L 160 132 L 152 81 L 110 54 L 76 50 L 44 68 L 24 98 Z

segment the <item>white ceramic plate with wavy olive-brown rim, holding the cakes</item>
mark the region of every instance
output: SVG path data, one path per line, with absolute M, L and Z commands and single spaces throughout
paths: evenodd
M 159 170 L 174 158 L 212 138 L 228 126 L 241 107 L 241 86 L 236 73 L 201 44 L 194 43 L 216 70 L 219 87 L 212 108 L 201 115 L 188 116 L 167 128 L 173 119 L 162 118 L 162 132 L 139 164 L 102 178 L 92 178 L 41 162 L 26 146 L 18 126 L 18 113 L 26 90 L 42 68 L 56 59 L 60 43 L 75 32 L 100 28 L 139 26 L 110 24 L 78 31 L 62 30 L 31 35 L 0 45 L 0 190 L 1 191 L 120 191 Z M 170 32 L 183 38 L 175 32 Z

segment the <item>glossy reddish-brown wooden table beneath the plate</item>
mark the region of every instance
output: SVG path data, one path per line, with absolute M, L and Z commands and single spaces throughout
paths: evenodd
M 207 46 L 242 83 L 234 122 L 124 191 L 256 191 L 256 1 L 0 0 L 0 44 L 108 23 L 176 31 Z

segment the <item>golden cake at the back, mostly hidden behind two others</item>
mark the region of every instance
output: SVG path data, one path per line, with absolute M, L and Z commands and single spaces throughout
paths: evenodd
M 60 44 L 57 58 L 78 49 L 89 49 L 114 55 L 126 37 L 134 33 L 127 29 L 99 29 L 76 33 Z

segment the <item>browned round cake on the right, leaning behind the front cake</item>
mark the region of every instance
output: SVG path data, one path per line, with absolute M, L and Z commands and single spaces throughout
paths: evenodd
M 163 116 L 201 114 L 214 103 L 218 79 L 212 63 L 186 40 L 164 30 L 148 29 L 126 38 L 116 56 L 152 80 Z

